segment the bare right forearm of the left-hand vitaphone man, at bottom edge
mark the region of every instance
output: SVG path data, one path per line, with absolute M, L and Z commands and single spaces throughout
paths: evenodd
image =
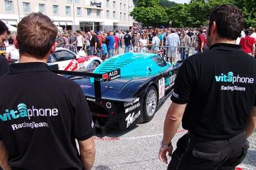
M 80 157 L 83 163 L 83 168 L 85 170 L 90 170 L 94 165 L 95 158 L 95 145 L 94 145 L 94 137 L 92 136 L 89 139 L 78 141 L 80 148 Z

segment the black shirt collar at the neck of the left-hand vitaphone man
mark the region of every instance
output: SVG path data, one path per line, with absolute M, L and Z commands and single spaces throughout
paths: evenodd
M 30 62 L 30 63 L 11 63 L 9 74 L 24 72 L 50 72 L 47 63 Z

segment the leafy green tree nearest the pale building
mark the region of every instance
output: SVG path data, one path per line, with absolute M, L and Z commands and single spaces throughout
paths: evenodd
M 160 26 L 168 22 L 165 8 L 159 5 L 159 0 L 140 0 L 129 15 L 144 26 Z

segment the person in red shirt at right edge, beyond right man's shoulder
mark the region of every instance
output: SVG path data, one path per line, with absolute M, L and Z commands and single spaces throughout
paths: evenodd
M 242 37 L 240 41 L 242 50 L 244 51 L 244 53 L 248 53 L 249 55 L 252 55 L 254 57 L 255 56 L 255 39 L 250 36 L 252 32 L 249 29 L 246 29 L 244 33 L 246 36 Z

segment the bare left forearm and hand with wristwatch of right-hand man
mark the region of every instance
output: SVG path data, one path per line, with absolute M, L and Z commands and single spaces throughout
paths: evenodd
M 173 136 L 176 134 L 179 125 L 181 125 L 181 119 L 183 117 L 185 108 L 187 104 L 170 104 L 170 107 L 167 111 L 167 115 L 165 117 L 165 125 L 164 125 L 164 136 L 162 139 L 162 145 L 159 150 L 159 159 L 164 163 L 167 163 L 167 156 L 171 156 L 173 152 L 173 146 L 170 147 L 163 147 L 163 145 L 167 146 L 173 139 Z

